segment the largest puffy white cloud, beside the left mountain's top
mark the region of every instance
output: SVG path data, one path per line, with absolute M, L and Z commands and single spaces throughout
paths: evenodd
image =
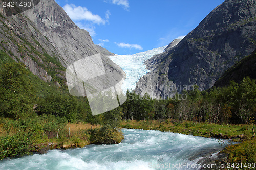
M 88 11 L 86 7 L 77 7 L 74 4 L 66 4 L 63 9 L 69 15 L 69 17 L 75 21 L 87 20 L 97 23 L 98 25 L 104 25 L 106 23 L 104 19 L 102 19 L 99 15 L 94 15 L 91 11 Z

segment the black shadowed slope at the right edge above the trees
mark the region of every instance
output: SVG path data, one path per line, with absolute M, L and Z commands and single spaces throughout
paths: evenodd
M 244 77 L 256 79 L 256 50 L 248 57 L 229 68 L 214 84 L 216 87 L 227 86 L 231 80 L 239 83 Z

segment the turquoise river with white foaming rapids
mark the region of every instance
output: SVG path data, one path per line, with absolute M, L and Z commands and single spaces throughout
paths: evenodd
M 44 155 L 24 156 L 0 161 L 1 169 L 197 169 L 171 165 L 198 160 L 189 158 L 201 149 L 216 147 L 218 139 L 177 133 L 123 129 L 124 140 L 116 145 L 88 145 L 85 148 L 51 150 Z M 225 142 L 225 140 L 223 140 Z M 166 163 L 168 168 L 166 168 Z M 159 165 L 165 167 L 157 168 Z

